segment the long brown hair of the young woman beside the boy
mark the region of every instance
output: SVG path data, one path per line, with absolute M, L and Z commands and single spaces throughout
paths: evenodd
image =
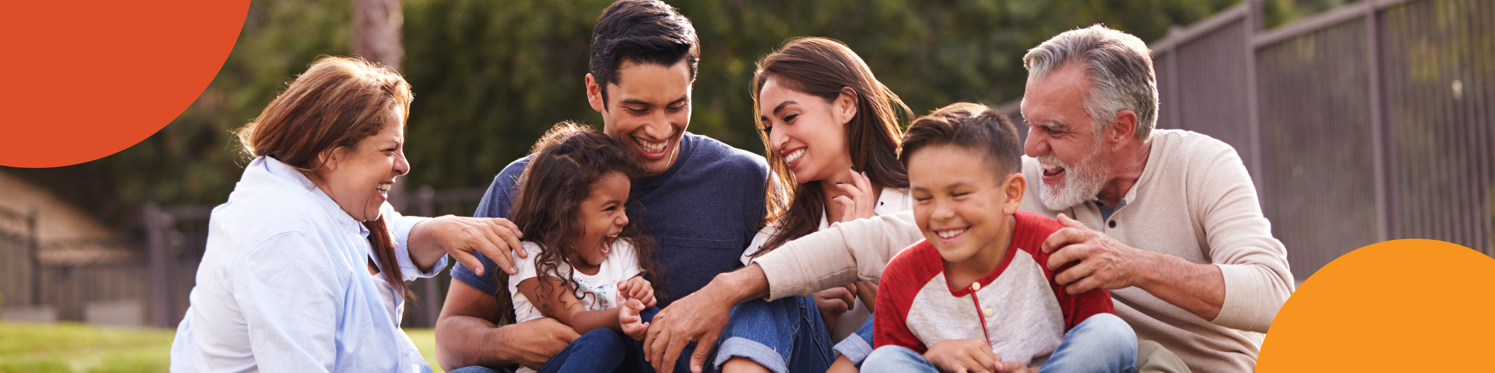
M 840 97 L 842 88 L 852 88 L 857 95 L 851 97 L 857 103 L 857 115 L 846 122 L 846 145 L 851 152 L 852 167 L 866 172 L 873 184 L 890 188 L 907 188 L 909 175 L 898 163 L 898 142 L 903 130 L 898 128 L 896 109 L 903 109 L 903 116 L 910 116 L 907 104 L 898 98 L 888 87 L 878 82 L 872 69 L 851 48 L 828 37 L 789 39 L 783 48 L 758 60 L 758 70 L 752 81 L 752 112 L 758 116 L 761 103 L 758 94 L 768 78 L 779 79 L 789 90 L 806 93 L 833 101 Z M 825 212 L 825 194 L 819 184 L 800 184 L 794 179 L 783 157 L 779 157 L 768 145 L 768 133 L 762 131 L 764 124 L 758 124 L 758 137 L 764 143 L 764 157 L 776 179 L 768 181 L 767 198 L 768 215 L 762 225 L 777 222 L 779 234 L 768 239 L 755 255 L 762 255 L 785 242 L 813 233 L 821 225 L 821 215 Z M 792 191 L 792 192 L 791 192 Z

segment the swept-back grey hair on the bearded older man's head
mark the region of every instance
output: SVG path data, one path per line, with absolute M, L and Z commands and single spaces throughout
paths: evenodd
M 1090 76 L 1085 112 L 1094 121 L 1096 136 L 1121 110 L 1136 113 L 1138 140 L 1153 136 L 1157 125 L 1157 78 L 1153 75 L 1153 51 L 1142 39 L 1094 24 L 1054 36 L 1023 55 L 1030 81 L 1069 63 L 1084 63 Z

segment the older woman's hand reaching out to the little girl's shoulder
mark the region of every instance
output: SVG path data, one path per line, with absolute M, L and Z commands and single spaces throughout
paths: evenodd
M 483 252 L 508 275 L 517 273 L 514 258 L 510 251 L 519 251 L 520 258 L 528 258 L 519 239 L 525 234 L 519 225 L 504 218 L 468 218 L 468 216 L 438 216 L 416 224 L 410 230 L 410 258 L 417 267 L 431 267 L 441 254 L 450 254 L 451 260 L 462 263 L 472 273 L 483 276 L 483 263 L 472 257 L 472 252 Z M 422 258 L 431 258 L 423 264 Z

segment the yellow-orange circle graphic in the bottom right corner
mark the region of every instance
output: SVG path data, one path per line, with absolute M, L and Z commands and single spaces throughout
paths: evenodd
M 1256 372 L 1491 372 L 1495 260 L 1390 240 L 1329 263 L 1283 304 Z

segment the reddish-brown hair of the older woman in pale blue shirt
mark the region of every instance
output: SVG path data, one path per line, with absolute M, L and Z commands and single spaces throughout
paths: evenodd
M 404 125 L 411 100 L 410 84 L 393 69 L 362 57 L 324 57 L 235 134 L 244 145 L 244 154 L 271 157 L 314 175 L 321 167 L 321 152 L 356 149 L 365 137 L 389 124 L 390 110 L 399 109 L 399 125 Z M 368 240 L 380 273 L 396 292 L 414 298 L 395 258 L 395 239 L 384 215 L 365 221 L 363 227 L 369 230 Z

